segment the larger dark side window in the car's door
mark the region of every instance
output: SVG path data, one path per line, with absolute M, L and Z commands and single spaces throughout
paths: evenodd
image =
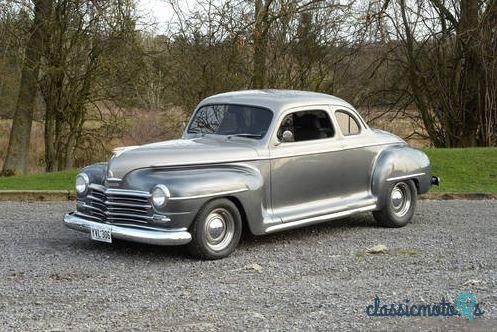
M 286 138 L 286 142 L 310 141 L 335 135 L 328 113 L 320 110 L 288 114 L 278 129 L 277 137 L 280 141 L 283 141 L 285 131 L 292 133 L 290 139 Z

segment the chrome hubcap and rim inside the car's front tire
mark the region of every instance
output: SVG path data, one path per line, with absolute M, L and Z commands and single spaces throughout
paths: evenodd
M 205 221 L 207 246 L 214 251 L 226 248 L 233 239 L 235 223 L 231 213 L 226 209 L 218 208 L 209 213 Z

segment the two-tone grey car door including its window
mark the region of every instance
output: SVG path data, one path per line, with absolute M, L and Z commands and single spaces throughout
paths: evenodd
M 322 215 L 346 190 L 340 137 L 327 105 L 284 112 L 270 143 L 271 205 L 283 222 Z M 293 141 L 283 142 L 291 131 Z

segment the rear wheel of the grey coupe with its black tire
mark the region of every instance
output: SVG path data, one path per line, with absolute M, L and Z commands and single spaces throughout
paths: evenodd
M 381 210 L 373 211 L 373 216 L 384 227 L 404 227 L 409 223 L 417 203 L 416 185 L 412 180 L 390 184 L 382 195 Z M 399 198 L 401 197 L 401 198 Z

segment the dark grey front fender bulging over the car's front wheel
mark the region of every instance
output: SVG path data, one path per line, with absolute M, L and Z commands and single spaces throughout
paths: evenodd
M 159 212 L 170 216 L 171 227 L 189 227 L 198 210 L 216 197 L 234 199 L 251 231 L 267 206 L 264 176 L 250 164 L 216 164 L 189 167 L 143 168 L 126 175 L 121 187 L 151 191 L 165 185 L 171 197 Z

